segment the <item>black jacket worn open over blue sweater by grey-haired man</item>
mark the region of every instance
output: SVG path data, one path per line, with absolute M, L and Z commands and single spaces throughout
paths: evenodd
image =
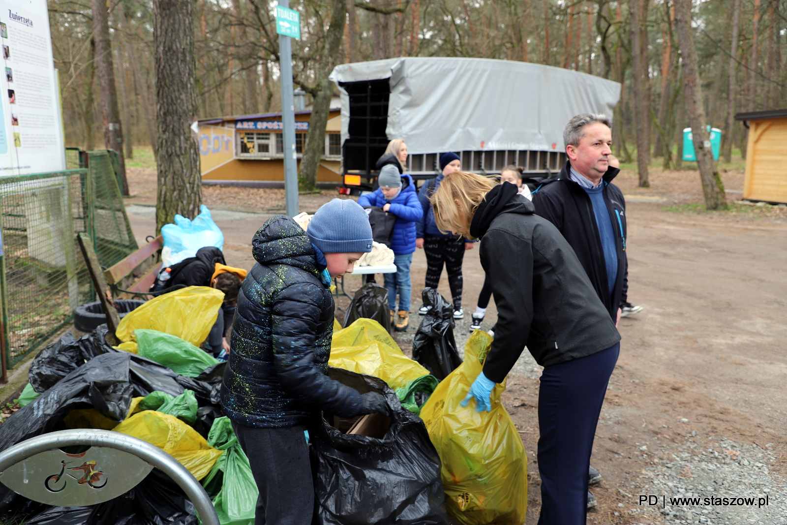
M 623 192 L 612 183 L 618 175 L 618 168 L 608 168 L 603 177 L 604 202 L 612 221 L 615 232 L 615 245 L 618 251 L 618 275 L 615 288 L 609 294 L 607 283 L 607 266 L 604 261 L 604 249 L 598 233 L 596 216 L 593 214 L 593 203 L 587 192 L 571 180 L 571 164 L 560 171 L 556 179 L 534 179 L 541 187 L 533 194 L 533 205 L 538 216 L 544 217 L 554 224 L 585 268 L 593 289 L 609 311 L 613 320 L 617 320 L 618 309 L 627 300 L 629 289 L 629 264 L 626 259 L 626 201 Z

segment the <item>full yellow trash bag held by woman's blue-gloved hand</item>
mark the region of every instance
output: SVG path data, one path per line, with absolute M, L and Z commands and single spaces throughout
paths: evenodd
M 527 512 L 527 456 L 502 405 L 505 383 L 492 391 L 492 411 L 460 402 L 482 370 L 492 338 L 476 330 L 464 363 L 442 380 L 421 408 L 421 418 L 442 460 L 445 506 L 463 525 L 521 525 Z

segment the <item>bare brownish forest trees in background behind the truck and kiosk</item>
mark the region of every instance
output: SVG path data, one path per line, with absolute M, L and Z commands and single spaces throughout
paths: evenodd
M 127 158 L 135 146 L 156 153 L 153 3 L 106 4 Z M 192 0 L 192 6 L 198 116 L 279 111 L 275 2 Z M 93 7 L 91 0 L 49 0 L 66 143 L 86 150 L 103 146 L 105 134 Z M 653 157 L 664 168 L 680 166 L 689 117 L 674 0 L 295 0 L 290 7 L 301 13 L 294 82 L 307 91 L 307 105 L 320 90 L 334 91 L 327 74 L 344 62 L 528 61 L 622 83 L 615 155 L 637 158 L 640 166 Z M 700 0 L 692 3 L 691 19 L 705 118 L 722 129 L 729 162 L 731 150 L 745 154 L 746 130 L 735 113 L 787 105 L 787 0 Z M 105 47 L 99 39 L 100 53 Z M 637 125 L 642 122 L 648 125 Z

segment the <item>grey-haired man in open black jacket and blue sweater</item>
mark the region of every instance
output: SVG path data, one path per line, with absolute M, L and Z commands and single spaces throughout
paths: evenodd
M 607 116 L 583 113 L 563 130 L 568 160 L 556 179 L 540 179 L 534 192 L 536 213 L 554 224 L 574 249 L 593 290 L 617 326 L 628 290 L 626 201 L 612 183 L 611 122 Z M 601 475 L 590 468 L 591 482 Z M 592 494 L 588 505 L 595 506 Z

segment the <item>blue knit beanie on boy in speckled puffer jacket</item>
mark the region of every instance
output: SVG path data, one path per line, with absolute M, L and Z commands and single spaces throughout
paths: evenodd
M 356 201 L 334 198 L 323 204 L 306 233 L 323 253 L 371 252 L 369 217 Z

